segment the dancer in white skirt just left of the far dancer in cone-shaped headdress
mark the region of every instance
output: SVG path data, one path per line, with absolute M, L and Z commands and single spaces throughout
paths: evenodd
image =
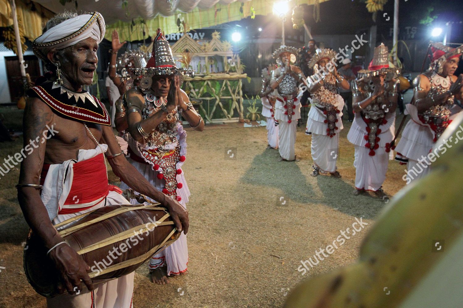
M 333 63 L 335 56 L 334 50 L 317 50 L 317 54 L 309 62 L 314 75 L 307 79 L 312 94 L 312 107 L 307 119 L 306 133 L 312 133 L 312 176 L 330 173 L 341 177 L 336 161 L 339 132 L 343 129 L 341 116 L 344 100 L 337 92 L 338 87 L 348 89 L 349 82 L 337 72 Z

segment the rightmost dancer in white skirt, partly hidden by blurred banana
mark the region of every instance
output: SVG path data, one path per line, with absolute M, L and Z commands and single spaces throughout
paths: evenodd
M 455 76 L 463 45 L 457 48 L 434 43 L 430 69 L 413 80 L 414 102 L 406 106 L 410 119 L 402 132 L 395 151 L 396 159 L 407 163 L 407 184 L 429 172 L 423 160 L 434 147 L 439 136 L 461 108 L 454 108 L 462 99 L 463 75 Z

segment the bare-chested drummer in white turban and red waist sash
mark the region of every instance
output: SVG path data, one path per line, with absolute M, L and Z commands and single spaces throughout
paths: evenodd
M 48 307 L 131 307 L 133 272 L 94 286 L 88 264 L 54 227 L 99 207 L 128 202 L 120 189 L 108 185 L 106 161 L 131 188 L 167 207 L 179 231 L 188 231 L 188 212 L 120 155 L 104 105 L 82 89 L 92 84 L 104 34 L 100 13 L 67 12 L 50 19 L 32 44 L 53 74 L 28 91 L 24 145 L 29 150 L 17 188 L 26 221 L 61 274 L 58 289 L 69 293 L 47 299 Z

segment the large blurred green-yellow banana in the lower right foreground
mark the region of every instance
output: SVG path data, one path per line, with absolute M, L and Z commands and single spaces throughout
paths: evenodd
M 463 239 L 463 141 L 457 138 L 462 124 L 460 114 L 437 141 L 434 153 L 440 157 L 431 172 L 400 190 L 384 208 L 357 263 L 300 283 L 284 307 L 397 307 L 416 299 L 412 294 L 432 292 L 422 282 L 445 261 L 449 247 L 459 247 Z M 451 147 L 441 147 L 444 138 Z M 445 250 L 438 251 L 444 244 Z M 439 277 L 431 288 L 446 279 Z M 460 290 L 455 287 L 455 292 Z

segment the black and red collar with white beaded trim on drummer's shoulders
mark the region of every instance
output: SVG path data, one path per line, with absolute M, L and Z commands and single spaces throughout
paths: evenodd
M 104 105 L 87 91 L 76 93 L 54 82 L 44 82 L 32 87 L 28 94 L 38 97 L 65 117 L 111 126 L 111 118 Z

